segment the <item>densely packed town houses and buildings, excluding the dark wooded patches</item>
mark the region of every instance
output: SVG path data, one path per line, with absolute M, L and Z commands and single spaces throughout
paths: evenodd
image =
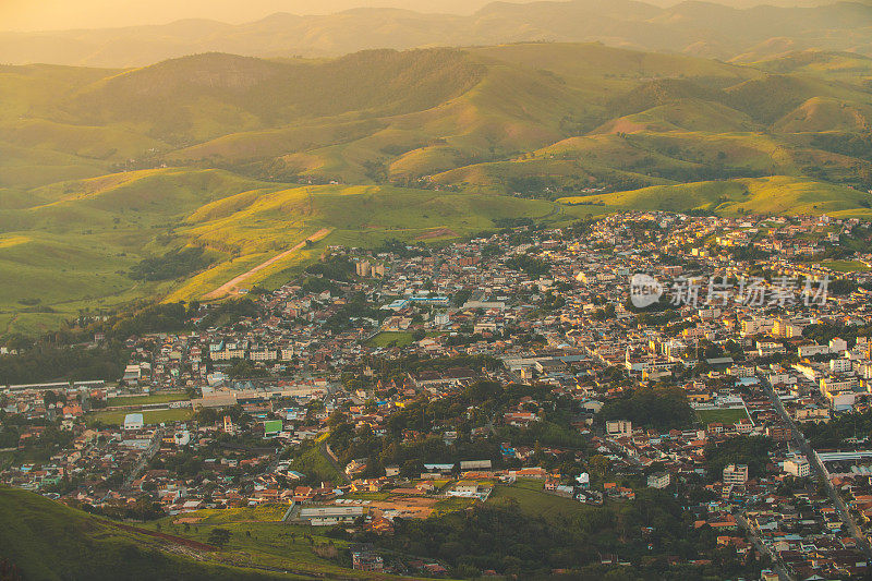
M 33 424 L 25 422 L 19 448 L 39 441 L 37 420 L 57 422 L 71 437 L 44 461 L 5 467 L 0 480 L 96 507 L 147 496 L 171 515 L 282 503 L 294 507 L 293 521 L 378 531 L 389 531 L 396 516 L 429 515 L 435 498 L 487 501 L 495 487 L 518 480 L 593 505 L 632 500 L 639 487 L 700 486 L 711 499 L 687 509 L 697 515 L 694 526 L 717 531 L 718 544 L 743 557 L 765 553 L 803 579 L 862 572 L 864 549 L 832 500 L 814 491 L 819 462 L 797 448 L 795 426 L 869 409 L 872 343 L 868 332 L 856 332 L 872 324 L 869 268 L 841 273 L 815 258 L 868 239 L 868 225 L 651 211 L 573 228 L 522 228 L 405 252 L 330 247 L 332 259 L 353 265 L 344 279 L 258 294 L 259 315 L 232 325 L 202 328 L 213 308 L 205 305 L 193 315 L 193 331 L 132 337 L 117 385 L 10 386 L 3 409 Z M 753 261 L 744 257 L 751 252 Z M 872 264 L 869 254 L 848 258 Z M 740 281 L 761 273 L 763 300 L 748 300 Z M 634 306 L 637 274 L 656 280 L 668 305 Z M 827 293 L 835 280 L 852 288 Z M 825 340 L 807 332 L 821 329 L 833 332 Z M 475 356 L 494 364 L 470 364 Z M 409 358 L 463 362 L 383 373 Z M 399 467 L 373 475 L 360 459 L 340 467 L 331 483 L 312 482 L 294 463 L 294 450 L 320 441 L 337 412 L 382 436 L 411 403 L 483 380 L 535 383 L 572 400 L 579 411 L 565 427 L 586 446 L 535 451 L 526 441 L 505 441 L 499 457 L 422 458 L 419 474 L 402 476 Z M 610 401 L 654 385 L 680 388 L 694 425 L 654 429 L 597 416 Z M 123 396 L 182 391 L 194 397 L 160 409 L 187 410 L 184 420 L 154 421 L 155 410 L 119 404 Z M 124 421 L 94 426 L 107 406 Z M 547 411 L 519 398 L 469 437 L 524 431 Z M 446 445 L 461 437 L 451 419 L 434 422 L 432 434 Z M 403 441 L 424 436 L 408 431 Z M 706 449 L 744 436 L 774 443 L 762 470 L 737 462 L 711 474 Z M 845 443 L 840 451 L 853 456 L 827 464 L 826 477 L 856 513 L 872 516 L 872 459 L 864 463 L 863 445 Z M 543 456 L 567 455 L 586 470 L 542 468 Z M 354 500 L 364 492 L 391 494 Z M 372 552 L 354 555 L 355 568 L 385 569 Z

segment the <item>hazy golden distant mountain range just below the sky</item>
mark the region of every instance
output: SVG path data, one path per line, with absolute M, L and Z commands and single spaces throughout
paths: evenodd
M 371 48 L 479 46 L 519 41 L 601 41 L 609 46 L 758 61 L 818 49 L 872 55 L 872 8 L 734 9 L 688 1 L 658 8 L 634 0 L 495 2 L 472 15 L 355 9 L 330 15 L 277 13 L 230 25 L 167 25 L 46 33 L 0 33 L 0 62 L 143 66 L 192 53 L 340 56 Z

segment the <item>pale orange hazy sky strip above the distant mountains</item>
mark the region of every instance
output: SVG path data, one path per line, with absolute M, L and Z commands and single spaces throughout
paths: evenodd
M 512 0 L 525 2 L 532 0 Z M 680 0 L 647 0 L 670 5 Z M 714 0 L 724 4 L 808 4 L 816 0 Z M 0 31 L 102 28 L 211 19 L 239 24 L 275 12 L 330 14 L 359 7 L 470 14 L 491 0 L 0 0 Z

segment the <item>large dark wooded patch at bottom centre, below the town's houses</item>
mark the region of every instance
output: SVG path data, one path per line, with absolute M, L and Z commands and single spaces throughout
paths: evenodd
M 718 548 L 708 526 L 693 529 L 692 515 L 671 494 L 641 489 L 623 506 L 570 509 L 550 518 L 531 513 L 513 498 L 495 498 L 467 511 L 429 519 L 396 519 L 392 536 L 351 536 L 404 554 L 439 559 L 455 578 L 484 571 L 517 579 L 726 579 L 742 571 L 731 548 Z M 601 558 L 619 555 L 632 569 L 603 567 Z M 668 557 L 705 559 L 705 565 L 669 564 Z

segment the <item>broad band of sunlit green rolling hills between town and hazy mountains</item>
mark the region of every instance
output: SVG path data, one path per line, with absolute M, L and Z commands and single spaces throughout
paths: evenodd
M 440 241 L 506 216 L 865 216 L 868 61 L 538 43 L 2 66 L 0 334 L 203 298 L 253 268 L 246 285 L 277 286 L 328 244 Z M 193 266 L 133 278 L 185 249 Z

